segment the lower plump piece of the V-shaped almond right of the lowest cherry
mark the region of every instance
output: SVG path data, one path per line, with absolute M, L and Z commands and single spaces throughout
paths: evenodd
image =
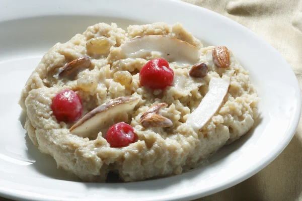
M 140 120 L 140 124 L 144 128 L 148 127 L 170 127 L 173 126 L 171 120 L 158 114 L 148 114 Z

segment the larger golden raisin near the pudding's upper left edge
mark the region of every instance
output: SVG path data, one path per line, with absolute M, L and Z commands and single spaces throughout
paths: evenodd
M 112 45 L 113 42 L 110 39 L 101 36 L 88 40 L 86 43 L 86 49 L 88 53 L 106 54 L 109 53 Z

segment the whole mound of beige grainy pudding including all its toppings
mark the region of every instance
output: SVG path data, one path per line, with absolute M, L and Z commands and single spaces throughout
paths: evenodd
M 181 174 L 246 134 L 259 97 L 225 46 L 181 24 L 99 23 L 54 45 L 22 90 L 25 129 L 84 181 Z

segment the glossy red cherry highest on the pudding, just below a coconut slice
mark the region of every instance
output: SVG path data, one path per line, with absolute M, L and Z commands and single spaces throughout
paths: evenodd
M 148 61 L 139 72 L 139 81 L 142 86 L 152 89 L 164 89 L 173 83 L 174 72 L 165 59 Z

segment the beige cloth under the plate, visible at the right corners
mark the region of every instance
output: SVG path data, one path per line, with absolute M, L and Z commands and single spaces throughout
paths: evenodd
M 239 22 L 287 60 L 302 86 L 302 0 L 185 0 Z M 204 200 L 302 200 L 302 121 L 285 150 L 242 183 Z

